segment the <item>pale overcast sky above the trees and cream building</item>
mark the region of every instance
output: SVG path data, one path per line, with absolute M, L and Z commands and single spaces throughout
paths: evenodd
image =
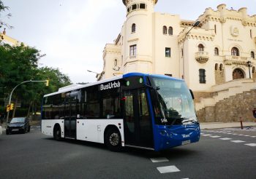
M 1 0 L 12 17 L 2 20 L 14 26 L 7 35 L 40 50 L 40 66 L 59 68 L 73 83 L 96 81 L 103 68 L 105 44 L 113 43 L 126 20 L 122 0 Z M 247 7 L 256 15 L 256 0 L 158 0 L 156 12 L 197 20 L 206 8 L 219 4 L 235 10 Z M 8 13 L 9 13 L 8 12 Z M 0 29 L 3 31 L 3 29 Z

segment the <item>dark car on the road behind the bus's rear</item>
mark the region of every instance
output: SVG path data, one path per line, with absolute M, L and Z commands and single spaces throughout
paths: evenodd
M 10 121 L 10 123 L 7 124 L 6 134 L 9 135 L 11 133 L 15 132 L 30 132 L 30 124 L 29 119 L 26 117 L 14 117 Z

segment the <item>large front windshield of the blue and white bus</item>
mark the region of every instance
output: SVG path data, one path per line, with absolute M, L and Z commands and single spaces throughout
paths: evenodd
M 152 78 L 156 124 L 173 125 L 197 122 L 192 95 L 184 81 Z

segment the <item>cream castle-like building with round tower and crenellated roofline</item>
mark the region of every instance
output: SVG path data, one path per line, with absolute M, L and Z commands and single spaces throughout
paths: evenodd
M 157 0 L 123 2 L 127 19 L 114 43 L 105 46 L 98 80 L 129 72 L 184 78 L 195 93 L 200 121 L 208 122 L 225 117 L 217 106 L 230 105 L 230 98 L 255 95 L 256 15 L 247 15 L 246 7 L 227 9 L 220 4 L 193 21 L 154 12 Z M 256 102 L 240 103 L 248 108 L 241 111 L 238 103 L 236 114 L 253 120 Z M 234 121 L 236 114 L 225 120 Z

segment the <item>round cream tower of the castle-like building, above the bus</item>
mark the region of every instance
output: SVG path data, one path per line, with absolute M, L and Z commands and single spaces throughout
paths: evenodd
M 127 20 L 122 29 L 123 72 L 153 73 L 153 13 L 157 0 L 123 0 Z

